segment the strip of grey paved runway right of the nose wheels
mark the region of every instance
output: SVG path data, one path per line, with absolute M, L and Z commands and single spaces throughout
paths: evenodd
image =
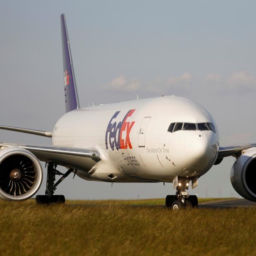
M 256 202 L 246 199 L 223 199 L 198 204 L 198 208 L 256 207 Z

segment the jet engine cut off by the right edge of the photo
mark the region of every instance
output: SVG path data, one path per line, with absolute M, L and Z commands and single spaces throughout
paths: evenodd
M 256 202 L 256 148 L 249 148 L 236 159 L 231 173 L 234 190 L 245 199 Z

